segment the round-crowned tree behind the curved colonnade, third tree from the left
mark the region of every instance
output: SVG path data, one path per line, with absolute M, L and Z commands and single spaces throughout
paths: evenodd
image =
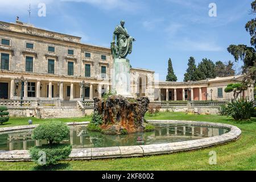
M 201 63 L 199 63 L 197 69 L 197 80 L 206 80 L 207 78 L 216 77 L 215 64 L 207 58 L 203 59 Z

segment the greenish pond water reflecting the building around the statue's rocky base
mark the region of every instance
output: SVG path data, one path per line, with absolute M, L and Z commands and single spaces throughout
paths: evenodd
M 71 143 L 73 148 L 137 146 L 196 140 L 229 132 L 228 129 L 180 123 L 158 123 L 154 125 L 156 126 L 155 131 L 128 135 L 104 135 L 88 131 L 86 126 L 69 126 L 69 140 L 63 143 Z M 28 150 L 32 146 L 41 146 L 47 143 L 44 140 L 31 139 L 31 134 L 32 130 L 19 130 L 0 134 L 0 150 Z

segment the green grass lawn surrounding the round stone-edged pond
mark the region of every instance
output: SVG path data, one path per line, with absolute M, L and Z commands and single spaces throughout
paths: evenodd
M 61 121 L 89 121 L 80 119 L 59 119 Z M 186 115 L 184 113 L 160 113 L 146 119 L 177 119 L 191 121 L 220 122 L 238 126 L 242 137 L 237 142 L 203 150 L 180 152 L 170 155 L 147 156 L 143 158 L 122 158 L 90 161 L 61 162 L 47 170 L 256 170 L 256 118 L 236 122 L 220 115 Z M 34 123 L 51 120 L 34 119 Z M 14 123 L 15 122 L 15 123 Z M 26 125 L 26 119 L 10 119 L 7 126 Z M 209 152 L 217 152 L 217 165 L 209 165 Z M 0 162 L 0 170 L 42 170 L 32 162 Z

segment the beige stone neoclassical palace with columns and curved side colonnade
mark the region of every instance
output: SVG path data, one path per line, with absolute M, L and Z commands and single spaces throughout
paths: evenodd
M 42 30 L 19 22 L 0 22 L 0 99 L 78 101 L 92 100 L 112 89 L 113 58 L 110 48 L 81 43 L 72 35 Z M 231 100 L 225 93 L 240 76 L 196 82 L 166 82 L 155 72 L 131 68 L 132 96 L 151 101 Z M 253 87 L 241 97 L 253 99 Z

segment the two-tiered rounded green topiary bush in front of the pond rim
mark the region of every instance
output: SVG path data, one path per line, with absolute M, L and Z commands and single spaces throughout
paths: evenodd
M 60 144 L 61 141 L 68 139 L 69 128 L 62 122 L 46 122 L 33 130 L 32 139 L 47 140 L 48 144 L 30 148 L 31 159 L 40 165 L 56 164 L 59 160 L 67 159 L 71 154 L 70 144 Z M 40 163 L 39 159 L 46 156 L 45 163 Z

